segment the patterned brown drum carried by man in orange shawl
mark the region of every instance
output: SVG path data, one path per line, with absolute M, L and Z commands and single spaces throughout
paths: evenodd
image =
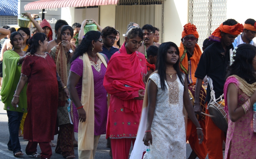
M 204 101 L 205 101 L 205 98 L 206 98 L 206 88 L 207 88 L 207 85 L 202 85 L 202 88 L 201 88 L 201 91 L 200 91 L 200 95 L 199 95 L 199 98 L 200 98 L 200 105 L 202 107 L 202 112 L 205 113 L 205 104 L 204 104 Z M 194 107 L 194 102 L 195 102 L 195 90 L 196 90 L 196 86 L 189 86 L 188 87 L 188 93 L 189 93 L 189 98 L 190 98 L 190 101 Z M 198 114 L 196 114 L 196 118 L 198 121 L 200 120 L 204 120 L 205 119 L 205 115 L 202 114 L 201 116 L 199 116 Z M 189 119 L 189 117 L 188 117 Z

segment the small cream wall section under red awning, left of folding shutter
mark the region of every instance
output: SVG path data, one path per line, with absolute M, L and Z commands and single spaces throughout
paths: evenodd
M 100 7 L 100 23 L 102 28 L 112 26 L 115 28 L 116 5 L 101 5 Z

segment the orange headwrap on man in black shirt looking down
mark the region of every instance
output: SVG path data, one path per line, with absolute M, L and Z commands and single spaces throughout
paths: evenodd
M 236 25 L 223 25 L 221 24 L 217 29 L 214 30 L 212 35 L 209 36 L 210 40 L 218 41 L 221 40 L 220 31 L 231 35 L 239 35 L 244 30 L 243 24 L 237 23 Z

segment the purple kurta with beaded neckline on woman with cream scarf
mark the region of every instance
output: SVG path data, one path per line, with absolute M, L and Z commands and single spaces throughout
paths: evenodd
M 98 66 L 96 66 L 94 62 L 91 62 L 94 82 L 94 135 L 101 135 L 106 134 L 106 124 L 108 115 L 107 91 L 103 87 L 103 79 L 107 69 L 102 63 L 102 61 L 100 61 L 100 59 L 97 61 L 97 64 Z M 83 56 L 77 57 L 76 60 L 74 60 L 71 63 L 70 71 L 76 73 L 81 77 L 76 85 L 76 90 L 80 100 L 82 94 L 83 68 Z M 76 108 L 74 103 L 73 108 Z M 74 109 L 73 115 L 74 132 L 78 132 L 79 120 L 76 109 Z

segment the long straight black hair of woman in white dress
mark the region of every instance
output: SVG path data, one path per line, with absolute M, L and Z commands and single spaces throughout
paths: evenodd
M 165 85 L 165 80 L 167 80 L 166 79 L 166 56 L 167 56 L 167 51 L 168 51 L 168 49 L 170 49 L 170 47 L 174 47 L 177 50 L 179 58 L 178 58 L 178 61 L 173 65 L 173 68 L 176 70 L 177 75 L 180 79 L 180 82 L 184 86 L 184 80 L 183 80 L 182 72 L 180 71 L 180 66 L 179 66 L 179 64 L 180 64 L 179 48 L 173 42 L 164 42 L 158 48 L 157 62 L 156 62 L 156 68 L 157 68 L 158 74 L 160 76 L 162 90 L 166 89 L 166 85 Z

